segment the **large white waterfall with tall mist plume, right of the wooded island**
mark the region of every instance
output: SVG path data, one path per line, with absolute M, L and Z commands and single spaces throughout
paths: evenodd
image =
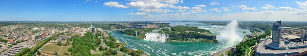
M 223 31 L 221 31 L 220 35 L 216 36 L 216 40 L 229 43 L 233 43 L 236 41 L 242 41 L 243 39 L 237 34 L 238 22 L 236 20 L 232 20 L 228 23 Z

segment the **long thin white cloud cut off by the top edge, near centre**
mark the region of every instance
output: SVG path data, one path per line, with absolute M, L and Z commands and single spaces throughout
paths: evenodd
M 145 3 L 166 3 L 166 4 L 178 4 L 179 2 L 183 3 L 183 0 L 131 0 L 136 2 L 145 2 Z

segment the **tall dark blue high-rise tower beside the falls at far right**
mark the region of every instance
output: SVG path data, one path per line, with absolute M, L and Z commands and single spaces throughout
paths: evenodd
M 272 29 L 272 41 L 273 43 L 280 43 L 280 38 L 281 38 L 281 28 L 278 23 L 273 24 L 273 29 Z

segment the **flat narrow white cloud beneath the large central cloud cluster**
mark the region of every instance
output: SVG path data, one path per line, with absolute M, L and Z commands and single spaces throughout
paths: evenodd
M 172 10 L 169 10 L 169 9 L 139 9 L 140 11 L 144 11 L 144 12 L 146 12 L 146 13 L 149 13 L 149 12 L 164 12 L 164 13 L 166 13 L 166 12 L 173 12 Z

